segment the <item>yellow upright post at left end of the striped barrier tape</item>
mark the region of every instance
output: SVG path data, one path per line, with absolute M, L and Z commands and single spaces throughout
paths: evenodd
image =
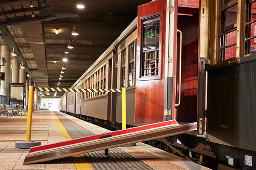
M 31 141 L 31 124 L 32 124 L 32 109 L 33 109 L 33 94 L 34 86 L 29 86 L 28 91 L 28 120 L 27 120 L 27 138 L 26 141 Z

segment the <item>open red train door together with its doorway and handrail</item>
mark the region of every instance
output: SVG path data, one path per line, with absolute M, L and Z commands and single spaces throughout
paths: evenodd
M 199 3 L 192 1 L 138 7 L 136 123 L 198 122 Z

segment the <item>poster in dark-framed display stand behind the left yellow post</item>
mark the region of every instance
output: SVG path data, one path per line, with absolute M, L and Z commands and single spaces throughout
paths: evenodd
M 23 101 L 24 83 L 10 83 L 10 101 Z

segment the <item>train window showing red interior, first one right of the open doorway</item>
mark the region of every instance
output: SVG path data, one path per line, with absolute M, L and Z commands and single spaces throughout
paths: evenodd
M 222 7 L 219 61 L 236 57 L 237 1 L 233 0 L 233 2 L 230 6 Z

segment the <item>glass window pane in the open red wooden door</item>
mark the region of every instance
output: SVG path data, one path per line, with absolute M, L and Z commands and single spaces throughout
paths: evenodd
M 142 76 L 159 75 L 160 16 L 143 20 Z

